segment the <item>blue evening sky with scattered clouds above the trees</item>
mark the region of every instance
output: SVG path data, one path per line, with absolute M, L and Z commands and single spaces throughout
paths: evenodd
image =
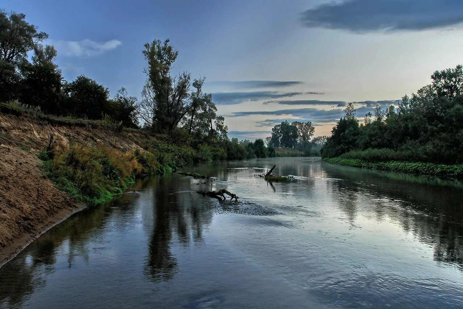
M 284 120 L 329 135 L 463 63 L 461 0 L 3 0 L 49 34 L 66 80 L 81 74 L 140 98 L 143 45 L 170 39 L 173 73 L 206 77 L 229 136 L 265 138 Z

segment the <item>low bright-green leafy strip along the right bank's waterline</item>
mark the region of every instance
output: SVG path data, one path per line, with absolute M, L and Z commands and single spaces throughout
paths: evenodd
M 385 170 L 416 175 L 436 176 L 442 178 L 463 179 L 463 164 L 434 164 L 422 162 L 369 162 L 362 159 L 323 158 L 323 161 L 352 167 Z

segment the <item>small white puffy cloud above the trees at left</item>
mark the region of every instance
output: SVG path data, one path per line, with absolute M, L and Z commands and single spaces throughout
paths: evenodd
M 106 51 L 113 50 L 122 44 L 119 40 L 94 42 L 88 38 L 81 41 L 47 40 L 47 44 L 54 45 L 59 54 L 68 57 L 92 57 Z

